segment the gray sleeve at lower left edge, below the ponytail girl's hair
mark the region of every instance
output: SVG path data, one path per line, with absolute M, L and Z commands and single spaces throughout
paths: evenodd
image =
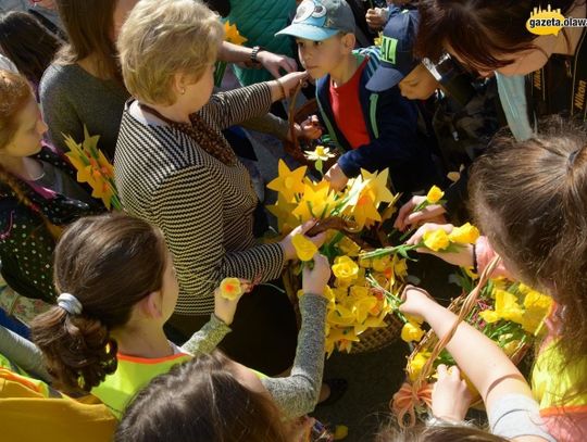
M 0 326 L 0 353 L 28 374 L 51 382 L 52 378 L 45 367 L 41 351 L 13 331 Z

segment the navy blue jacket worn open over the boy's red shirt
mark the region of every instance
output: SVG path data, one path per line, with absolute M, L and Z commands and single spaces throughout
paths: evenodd
M 414 102 L 403 98 L 396 86 L 384 92 L 371 92 L 366 83 L 379 63 L 379 48 L 371 47 L 354 51 L 359 56 L 369 56 L 359 84 L 360 110 L 366 124 L 371 142 L 352 149 L 336 125 L 329 99 L 330 76 L 316 83 L 316 99 L 323 124 L 332 141 L 344 153 L 338 164 L 349 178 L 361 173 L 389 167 L 396 191 L 425 190 L 435 181 L 436 172 L 432 152 L 417 130 L 417 109 Z

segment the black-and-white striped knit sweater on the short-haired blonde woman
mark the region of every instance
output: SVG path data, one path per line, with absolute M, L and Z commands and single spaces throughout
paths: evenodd
M 199 111 L 220 130 L 267 113 L 271 90 L 260 84 L 213 94 Z M 175 312 L 214 310 L 214 288 L 225 277 L 267 281 L 279 276 L 279 244 L 257 244 L 252 235 L 258 200 L 249 174 L 227 166 L 190 137 L 168 126 L 123 114 L 114 171 L 126 210 L 161 228 L 179 281 Z

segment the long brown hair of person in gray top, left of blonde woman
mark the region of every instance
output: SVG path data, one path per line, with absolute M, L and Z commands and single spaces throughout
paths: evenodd
M 100 77 L 122 83 L 116 47 L 110 39 L 117 0 L 55 0 L 55 3 L 70 39 L 58 62 L 74 64 L 92 55 Z

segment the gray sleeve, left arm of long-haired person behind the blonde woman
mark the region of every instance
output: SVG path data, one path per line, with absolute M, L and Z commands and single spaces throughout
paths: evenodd
M 84 124 L 70 101 L 67 85 L 62 80 L 58 67 L 51 65 L 45 72 L 39 85 L 39 97 L 51 142 L 61 151 L 68 151 L 63 134 L 72 136 L 74 140 L 83 140 Z

